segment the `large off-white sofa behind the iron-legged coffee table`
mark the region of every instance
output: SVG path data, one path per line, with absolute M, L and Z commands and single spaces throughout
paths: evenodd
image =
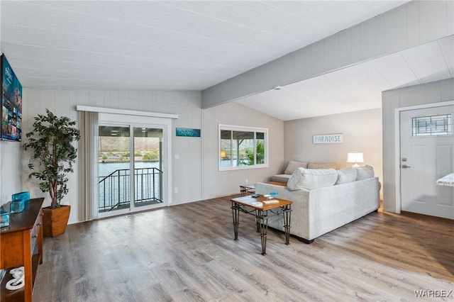
M 369 168 L 366 173 L 360 168 L 354 178 L 350 173 L 354 168 L 343 169 L 345 173 L 343 170 L 334 169 L 314 172 L 315 170 L 298 168 L 289 179 L 291 188 L 257 183 L 255 192 L 264 195 L 275 191 L 278 193 L 277 198 L 293 201 L 290 234 L 303 242 L 311 243 L 316 237 L 378 209 L 380 182 L 377 177 L 373 177 L 373 169 L 371 176 Z M 316 175 L 306 175 L 304 183 L 304 172 Z M 348 173 L 350 176 L 345 177 Z M 329 178 L 329 184 L 323 184 L 319 178 L 323 181 Z M 305 185 L 309 188 L 305 188 Z M 270 218 L 268 225 L 284 230 L 282 216 Z

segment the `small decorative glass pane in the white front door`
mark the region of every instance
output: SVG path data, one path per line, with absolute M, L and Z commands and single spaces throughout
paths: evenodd
M 411 136 L 453 135 L 453 122 L 450 114 L 441 116 L 421 116 L 411 118 Z

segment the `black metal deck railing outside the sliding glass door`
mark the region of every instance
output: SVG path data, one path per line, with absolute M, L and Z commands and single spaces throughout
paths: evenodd
M 131 171 L 117 169 L 99 177 L 99 212 L 129 208 Z M 162 203 L 162 171 L 157 168 L 134 169 L 134 205 Z

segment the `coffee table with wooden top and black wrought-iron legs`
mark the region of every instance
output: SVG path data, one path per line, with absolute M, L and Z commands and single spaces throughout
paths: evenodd
M 284 215 L 285 244 L 290 244 L 292 201 L 286 201 L 279 198 L 270 200 L 265 196 L 260 195 L 257 198 L 252 196 L 232 198 L 231 203 L 233 233 L 235 235 L 234 240 L 238 240 L 238 221 L 240 219 L 240 212 L 255 216 L 257 232 L 260 232 L 260 239 L 262 242 L 262 255 L 266 255 L 268 218 L 282 214 Z

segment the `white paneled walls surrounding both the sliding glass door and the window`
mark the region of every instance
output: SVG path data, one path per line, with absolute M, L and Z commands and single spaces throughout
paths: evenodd
M 237 104 L 226 104 L 202 111 L 200 91 L 69 91 L 24 88 L 24 133 L 31 130 L 33 117 L 38 113 L 45 113 L 45 108 L 49 108 L 58 116 L 68 116 L 77 121 L 77 105 L 179 115 L 172 124 L 174 155 L 172 186 L 178 188 L 178 193 L 172 196 L 174 205 L 238 193 L 239 185 L 243 184 L 245 179 L 248 179 L 251 184 L 266 181 L 270 175 L 278 172 L 284 160 L 284 123 L 282 121 Z M 268 128 L 270 167 L 218 172 L 218 123 Z M 176 137 L 176 127 L 199 128 L 201 138 Z M 1 142 L 0 147 L 1 179 L 4 180 L 1 185 L 2 188 L 9 188 L 5 194 L 30 191 L 32 198 L 45 196 L 38 189 L 37 181 L 28 179 L 29 156 L 26 154 L 21 156 L 21 145 Z M 4 151 L 11 156 L 4 157 Z M 175 155 L 179 155 L 178 160 L 175 159 Z M 3 169 L 11 166 L 15 166 L 15 171 L 18 173 L 13 177 Z M 77 175 L 77 165 L 75 165 L 74 173 L 69 177 L 70 194 L 62 201 L 72 206 L 70 223 L 78 222 Z M 50 198 L 47 197 L 45 206 L 49 203 Z

